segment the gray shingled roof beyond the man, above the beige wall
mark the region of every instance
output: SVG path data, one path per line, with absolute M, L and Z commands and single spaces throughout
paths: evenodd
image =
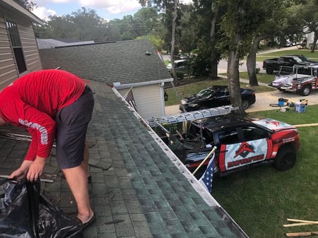
M 40 49 L 43 69 L 61 67 L 81 78 L 129 85 L 172 81 L 148 40 L 126 40 L 55 49 Z

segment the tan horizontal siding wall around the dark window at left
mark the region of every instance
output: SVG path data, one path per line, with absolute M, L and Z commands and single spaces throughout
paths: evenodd
M 10 40 L 6 31 L 6 19 L 18 25 L 25 65 L 27 71 L 21 75 L 42 69 L 37 42 L 33 31 L 33 23 L 25 18 L 16 16 L 6 9 L 0 9 L 0 90 L 19 77 L 16 61 L 14 60 Z

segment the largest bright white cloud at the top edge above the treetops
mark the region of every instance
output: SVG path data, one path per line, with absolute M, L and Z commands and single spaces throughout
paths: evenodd
M 125 13 L 141 7 L 138 0 L 80 0 L 80 4 L 88 8 L 104 8 L 113 14 Z

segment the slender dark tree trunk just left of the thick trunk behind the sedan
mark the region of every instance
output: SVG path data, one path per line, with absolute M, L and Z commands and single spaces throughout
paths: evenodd
M 211 20 L 210 41 L 211 41 L 211 79 L 218 79 L 218 53 L 216 49 L 216 21 L 218 19 L 218 6 L 212 2 L 211 11 L 213 18 Z

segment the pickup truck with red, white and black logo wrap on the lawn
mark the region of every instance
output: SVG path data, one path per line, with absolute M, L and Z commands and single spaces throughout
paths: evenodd
M 214 173 L 220 176 L 264 164 L 272 164 L 280 171 L 291 169 L 300 148 L 295 126 L 275 119 L 245 119 L 228 114 L 188 121 L 183 128 L 175 138 L 179 136 L 185 152 L 176 155 L 191 172 L 215 146 Z M 172 151 L 181 150 L 182 146 L 176 145 L 176 141 L 170 145 Z M 208 161 L 204 162 L 205 167 Z

